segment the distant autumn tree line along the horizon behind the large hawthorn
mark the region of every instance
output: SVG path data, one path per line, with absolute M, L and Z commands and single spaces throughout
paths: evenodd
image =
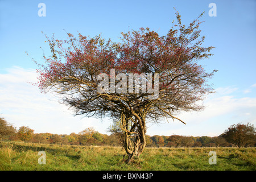
M 78 134 L 51 134 L 34 133 L 27 126 L 17 130 L 4 118 L 0 118 L 0 140 L 17 140 L 32 143 L 70 144 L 70 145 L 95 145 L 95 146 L 122 146 L 122 137 L 119 131 L 112 134 L 101 134 L 88 127 Z M 218 137 L 192 137 L 183 135 L 146 135 L 146 147 L 255 147 L 255 127 L 250 123 L 238 123 L 230 126 Z

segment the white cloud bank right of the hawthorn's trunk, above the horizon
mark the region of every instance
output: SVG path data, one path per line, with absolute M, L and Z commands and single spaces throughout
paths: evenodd
M 226 94 L 232 93 L 228 88 Z M 224 92 L 222 92 L 224 93 Z M 179 121 L 164 123 L 159 126 L 151 126 L 148 129 L 149 135 L 192 135 L 192 136 L 218 136 L 228 129 L 234 123 L 255 123 L 256 118 L 256 98 L 220 96 L 213 94 L 204 101 L 205 109 L 200 112 L 180 113 L 178 118 L 183 120 L 187 125 Z

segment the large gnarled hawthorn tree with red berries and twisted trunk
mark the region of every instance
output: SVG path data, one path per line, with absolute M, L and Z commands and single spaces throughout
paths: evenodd
M 202 15 L 186 27 L 176 11 L 177 24 L 166 35 L 140 28 L 122 32 L 119 43 L 101 35 L 75 38 L 67 33 L 67 40 L 46 36 L 52 55 L 43 55 L 46 64 L 35 61 L 40 67 L 39 88 L 60 94 L 61 102 L 75 115 L 112 118 L 123 133 L 130 161 L 146 146 L 146 121 L 171 118 L 183 122 L 175 114 L 203 109 L 199 101 L 213 92 L 207 80 L 214 71 L 207 73 L 198 64 L 213 49 L 201 46 L 205 39 L 199 30 Z M 131 73 L 139 77 L 132 84 L 126 78 Z M 139 86 L 144 83 L 146 92 Z

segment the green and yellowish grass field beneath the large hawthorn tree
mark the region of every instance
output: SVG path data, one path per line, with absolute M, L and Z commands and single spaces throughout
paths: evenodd
M 39 151 L 46 152 L 46 164 L 39 164 Z M 209 164 L 210 151 L 217 164 Z M 123 160 L 121 147 L 60 146 L 21 142 L 0 143 L 0 170 L 256 170 L 256 148 L 146 148 L 130 164 Z

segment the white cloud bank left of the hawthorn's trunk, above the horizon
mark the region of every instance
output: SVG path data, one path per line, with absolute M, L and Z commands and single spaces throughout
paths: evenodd
M 69 134 L 79 133 L 86 127 L 94 127 L 106 133 L 109 122 L 96 118 L 73 117 L 65 105 L 59 104 L 52 94 L 40 93 L 36 82 L 36 71 L 13 67 L 0 74 L 0 117 L 17 129 L 28 126 L 35 133 Z

